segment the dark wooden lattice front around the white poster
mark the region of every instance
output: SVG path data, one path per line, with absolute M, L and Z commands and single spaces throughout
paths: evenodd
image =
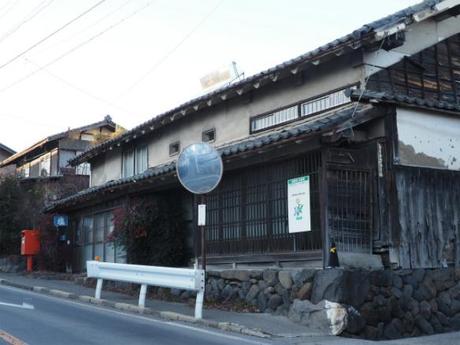
M 320 159 L 319 153 L 312 153 L 226 174 L 216 190 L 206 196 L 209 256 L 320 250 Z M 312 231 L 290 234 L 287 180 L 305 175 L 311 178 Z

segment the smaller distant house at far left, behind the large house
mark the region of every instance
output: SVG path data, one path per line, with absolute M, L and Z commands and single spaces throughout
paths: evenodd
M 56 200 L 89 186 L 89 164 L 82 163 L 72 167 L 68 161 L 92 146 L 112 138 L 116 131 L 117 125 L 110 116 L 106 116 L 102 121 L 44 138 L 2 160 L 0 169 L 14 169 L 23 184 L 46 184 L 49 188 L 49 199 Z

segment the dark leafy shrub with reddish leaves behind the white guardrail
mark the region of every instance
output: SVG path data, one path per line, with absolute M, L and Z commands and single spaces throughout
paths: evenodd
M 184 214 L 179 198 L 155 194 L 130 198 L 114 211 L 117 244 L 127 252 L 128 263 L 181 267 L 187 264 Z

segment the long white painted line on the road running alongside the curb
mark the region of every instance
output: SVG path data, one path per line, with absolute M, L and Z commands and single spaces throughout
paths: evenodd
M 216 332 L 216 331 L 207 330 L 207 329 L 203 329 L 203 328 L 184 325 L 184 324 L 181 324 L 181 323 L 175 323 L 175 322 L 172 322 L 172 321 L 163 321 L 163 320 L 158 320 L 158 319 L 154 319 L 154 318 L 148 318 L 148 317 L 140 316 L 140 315 L 136 315 L 136 314 L 123 313 L 121 311 L 108 309 L 108 308 L 102 308 L 102 307 L 99 307 L 99 306 L 96 306 L 96 305 L 86 304 L 84 302 L 71 301 L 71 300 L 67 300 L 67 299 L 64 299 L 64 298 L 48 296 L 48 295 L 44 295 L 44 294 L 41 294 L 41 293 L 28 291 L 28 290 L 22 290 L 22 289 L 10 287 L 10 286 L 0 286 L 0 288 L 13 290 L 13 291 L 18 291 L 19 290 L 19 291 L 21 291 L 21 293 L 34 295 L 34 296 L 40 296 L 40 297 L 43 297 L 44 299 L 51 299 L 51 300 L 54 300 L 54 301 L 59 300 L 62 303 L 74 304 L 74 305 L 78 305 L 80 307 L 88 308 L 88 309 L 96 309 L 96 310 L 98 310 L 100 312 L 112 313 L 112 314 L 117 314 L 117 315 L 120 315 L 120 316 L 123 316 L 123 317 L 136 318 L 136 319 L 139 319 L 139 320 L 148 321 L 148 322 L 152 322 L 152 323 L 157 323 L 157 324 L 161 324 L 161 325 L 168 325 L 168 326 L 171 326 L 171 327 L 188 329 L 188 330 L 199 332 L 199 333 L 205 333 L 205 334 L 208 334 L 208 335 L 214 335 L 214 336 L 217 336 L 217 337 L 236 340 L 239 343 L 246 343 L 246 344 L 253 344 L 253 345 L 269 345 L 270 344 L 270 343 L 263 342 L 263 341 L 250 340 L 250 339 L 246 339 L 246 338 L 243 338 L 243 337 L 238 337 L 238 336 L 234 336 L 234 335 L 224 334 L 224 333 L 221 333 L 221 332 Z

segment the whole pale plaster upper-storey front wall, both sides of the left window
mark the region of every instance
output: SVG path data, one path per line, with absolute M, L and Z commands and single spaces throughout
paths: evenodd
M 279 81 L 270 89 L 255 91 L 250 102 L 247 95 L 230 100 L 227 104 L 215 108 L 203 109 L 168 125 L 159 131 L 142 138 L 148 145 L 149 167 L 154 167 L 177 159 L 169 155 L 169 144 L 180 141 L 181 149 L 201 141 L 203 130 L 216 129 L 216 140 L 212 144 L 222 146 L 250 136 L 250 118 L 282 107 L 301 102 L 335 89 L 357 83 L 362 77 L 362 68 L 351 66 L 351 60 L 342 64 L 335 61 L 332 66 L 326 64 L 313 67 L 307 80 L 302 84 Z M 91 161 L 91 186 L 98 186 L 121 177 L 122 151 L 109 151 Z

